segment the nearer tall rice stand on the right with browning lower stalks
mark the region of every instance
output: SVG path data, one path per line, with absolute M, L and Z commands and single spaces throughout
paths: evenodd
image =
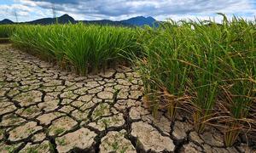
M 170 20 L 140 32 L 145 57 L 136 63 L 153 112 L 164 107 L 173 118 L 189 102 L 198 133 L 206 123 L 220 124 L 226 145 L 234 144 L 247 122 L 255 122 L 248 118 L 256 97 L 255 27 L 224 16 L 222 25 Z

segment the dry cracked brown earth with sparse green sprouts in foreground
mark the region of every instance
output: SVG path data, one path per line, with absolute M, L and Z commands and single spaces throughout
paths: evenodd
M 142 84 L 131 68 L 79 77 L 2 44 L 0 152 L 253 152 L 224 148 L 218 129 L 198 135 L 185 113 L 154 118 Z

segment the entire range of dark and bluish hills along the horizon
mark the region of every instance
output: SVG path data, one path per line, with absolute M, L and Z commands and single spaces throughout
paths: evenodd
M 152 17 L 143 17 L 137 16 L 128 20 L 120 20 L 120 21 L 113 21 L 113 20 L 74 20 L 73 17 L 69 16 L 68 14 L 63 14 L 58 18 L 43 18 L 38 20 L 32 20 L 28 22 L 22 22 L 20 24 L 32 24 L 32 25 L 50 25 L 55 24 L 58 20 L 59 24 L 67 24 L 67 23 L 78 23 L 83 22 L 85 24 L 99 24 L 99 25 L 113 25 L 113 26 L 154 26 L 156 20 Z M 3 24 L 13 24 L 14 22 L 11 20 L 2 20 L 0 21 L 0 25 Z

